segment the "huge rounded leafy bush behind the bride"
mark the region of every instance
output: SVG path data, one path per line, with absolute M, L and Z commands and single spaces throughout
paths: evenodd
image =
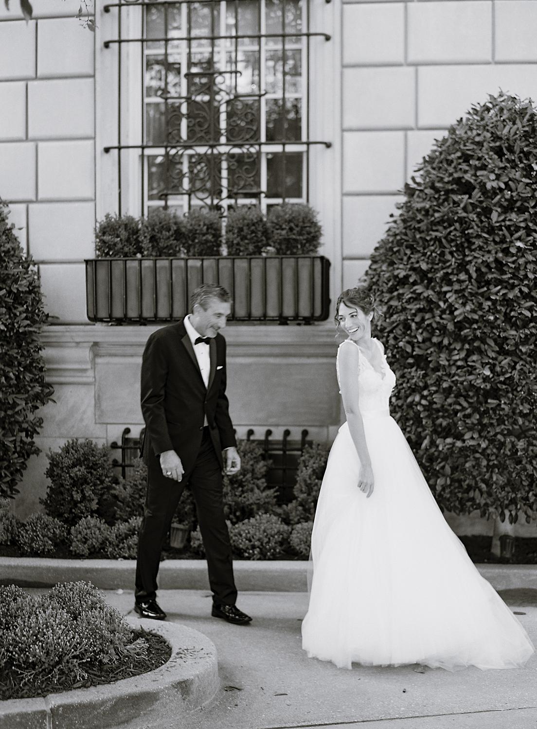
M 500 93 L 405 187 L 366 284 L 398 419 L 441 507 L 537 510 L 537 112 Z

